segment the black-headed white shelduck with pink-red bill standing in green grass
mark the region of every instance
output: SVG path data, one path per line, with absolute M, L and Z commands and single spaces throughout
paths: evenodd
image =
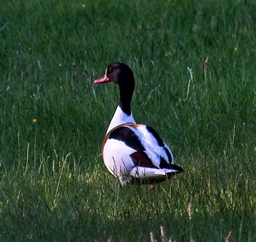
M 109 172 L 121 185 L 140 181 L 154 185 L 183 172 L 173 163 L 173 154 L 154 128 L 139 125 L 131 111 L 134 75 L 129 66 L 114 62 L 95 84 L 118 85 L 120 101 L 102 142 L 101 154 Z

